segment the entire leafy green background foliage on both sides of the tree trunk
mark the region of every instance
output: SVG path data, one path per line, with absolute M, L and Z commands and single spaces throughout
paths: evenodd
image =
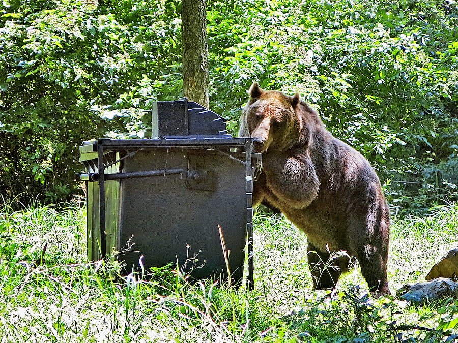
M 181 3 L 2 4 L 0 189 L 63 199 L 82 140 L 149 137 L 152 102 L 182 96 Z M 455 2 L 230 0 L 207 17 L 210 107 L 232 133 L 252 81 L 297 91 L 373 163 L 390 203 L 457 197 Z

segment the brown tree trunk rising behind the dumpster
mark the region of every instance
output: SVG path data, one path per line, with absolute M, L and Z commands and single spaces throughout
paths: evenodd
M 181 19 L 184 96 L 208 108 L 206 0 L 183 0 Z

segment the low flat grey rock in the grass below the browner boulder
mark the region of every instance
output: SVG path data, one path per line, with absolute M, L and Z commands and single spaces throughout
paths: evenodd
M 396 296 L 417 304 L 448 297 L 458 298 L 458 283 L 451 278 L 438 277 L 418 284 L 405 285 L 397 291 Z

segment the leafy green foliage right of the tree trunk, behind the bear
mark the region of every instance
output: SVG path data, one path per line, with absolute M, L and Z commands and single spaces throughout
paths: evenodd
M 232 43 L 214 53 L 215 61 L 223 60 L 212 69 L 213 85 L 221 86 L 214 94 L 224 95 L 215 106 L 235 120 L 251 80 L 298 91 L 319 108 L 327 128 L 388 181 L 390 202 L 415 212 L 456 197 L 454 2 L 215 4 L 211 39 Z M 409 192 L 406 184 L 417 189 Z

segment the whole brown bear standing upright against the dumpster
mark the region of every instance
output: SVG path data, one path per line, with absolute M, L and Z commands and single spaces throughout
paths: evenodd
M 390 216 L 373 167 L 334 138 L 298 93 L 263 90 L 257 82 L 248 92 L 239 136 L 252 137 L 262 153 L 253 206 L 279 209 L 307 235 L 314 289 L 334 289 L 356 258 L 371 294 L 390 294 Z M 330 259 L 339 251 L 346 253 Z

